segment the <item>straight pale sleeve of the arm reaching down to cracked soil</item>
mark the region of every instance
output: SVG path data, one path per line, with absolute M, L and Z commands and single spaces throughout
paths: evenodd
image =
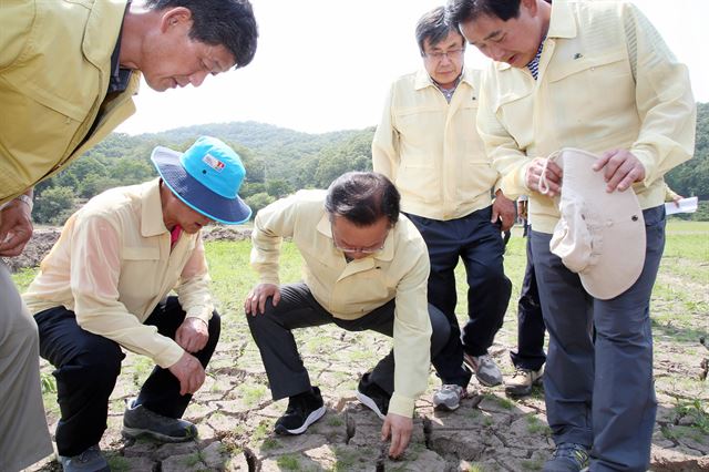
M 409 417 L 413 406 L 427 389 L 431 367 L 431 319 L 427 287 L 430 263 L 425 245 L 414 245 L 409 257 L 411 270 L 397 287 L 394 308 L 394 393 L 389 411 Z

